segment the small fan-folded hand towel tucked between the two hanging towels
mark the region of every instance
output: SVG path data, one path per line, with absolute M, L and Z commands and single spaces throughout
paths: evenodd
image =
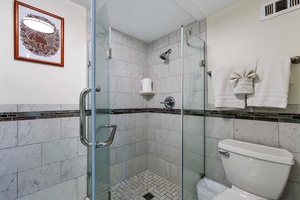
M 254 69 L 237 69 L 229 76 L 229 82 L 234 84 L 234 94 L 252 94 Z

